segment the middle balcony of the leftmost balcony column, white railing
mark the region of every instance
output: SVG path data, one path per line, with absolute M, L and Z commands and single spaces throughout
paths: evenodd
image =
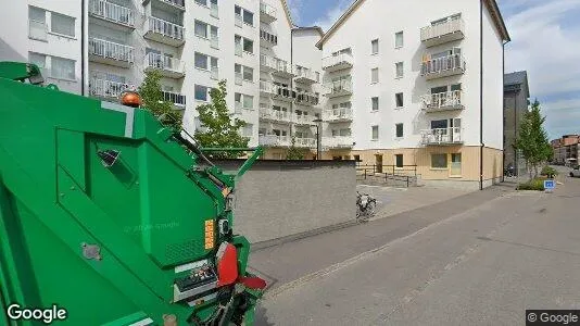
M 104 39 L 89 39 L 89 60 L 93 62 L 129 67 L 134 61 L 133 47 L 111 42 Z

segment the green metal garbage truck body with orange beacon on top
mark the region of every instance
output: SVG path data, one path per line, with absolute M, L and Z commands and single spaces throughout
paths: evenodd
M 63 325 L 252 325 L 261 289 L 240 281 L 250 246 L 230 201 L 262 150 L 225 174 L 148 111 L 38 79 L 35 65 L 0 62 L 0 325 L 40 324 L 11 321 L 13 303 L 56 304 Z M 236 283 L 176 297 L 223 243 Z

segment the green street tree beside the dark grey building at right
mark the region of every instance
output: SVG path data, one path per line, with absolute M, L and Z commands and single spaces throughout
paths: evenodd
M 545 116 L 540 112 L 540 102 L 535 100 L 531 110 L 526 112 L 520 124 L 516 148 L 521 151 L 529 167 L 530 178 L 538 177 L 538 167 L 547 162 L 554 152 L 547 139 L 543 124 Z

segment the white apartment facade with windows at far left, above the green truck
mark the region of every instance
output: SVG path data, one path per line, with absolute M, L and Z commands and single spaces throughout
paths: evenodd
M 0 60 L 34 62 L 42 70 L 47 83 L 81 93 L 85 73 L 81 2 L 28 0 L 3 4 Z

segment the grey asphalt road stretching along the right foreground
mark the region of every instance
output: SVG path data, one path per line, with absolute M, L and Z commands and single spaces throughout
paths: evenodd
M 268 296 L 257 325 L 525 325 L 526 309 L 580 309 L 580 179 L 563 181 L 554 193 L 508 191 L 316 273 Z

